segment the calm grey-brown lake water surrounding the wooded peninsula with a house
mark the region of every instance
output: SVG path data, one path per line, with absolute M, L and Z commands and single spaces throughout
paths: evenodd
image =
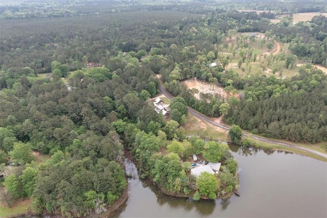
M 327 217 L 327 164 L 285 152 L 230 146 L 240 168 L 241 197 L 195 202 L 170 198 L 129 179 L 129 199 L 114 217 Z M 136 171 L 129 163 L 129 169 Z

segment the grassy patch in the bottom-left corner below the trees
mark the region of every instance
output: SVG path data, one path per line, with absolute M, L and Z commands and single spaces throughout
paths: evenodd
M 24 201 L 18 200 L 12 207 L 6 207 L 4 205 L 0 205 L 0 217 L 15 217 L 22 214 L 26 214 L 28 212 L 28 208 L 30 206 L 31 200 L 26 199 Z

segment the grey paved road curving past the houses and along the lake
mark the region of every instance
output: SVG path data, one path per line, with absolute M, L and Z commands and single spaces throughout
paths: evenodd
M 162 92 L 162 94 L 164 94 L 168 99 L 172 99 L 174 96 L 172 96 L 165 88 L 164 86 L 162 85 L 161 81 L 160 81 L 160 91 Z M 229 130 L 228 126 L 225 126 L 223 124 L 220 124 L 220 123 L 217 123 L 213 120 L 211 120 L 210 118 L 200 114 L 199 112 L 193 110 L 192 108 L 189 107 L 189 113 L 192 114 L 193 116 L 199 118 L 200 120 L 204 121 L 204 122 L 207 122 L 207 123 L 211 123 L 215 126 L 218 126 L 220 128 L 223 128 L 223 129 L 226 129 L 226 130 Z M 249 136 L 248 134 L 245 134 L 243 133 L 243 136 Z M 249 136 L 251 137 L 252 139 L 255 139 L 255 140 L 258 140 L 258 141 L 262 141 L 262 142 L 268 142 L 268 143 L 272 143 L 272 144 L 276 144 L 276 145 L 284 145 L 284 146 L 287 146 L 287 147 L 293 147 L 293 148 L 296 148 L 296 149 L 300 149 L 300 150 L 305 150 L 305 151 L 308 151 L 312 154 L 315 154 L 315 155 L 318 155 L 318 156 L 321 156 L 321 157 L 324 157 L 324 158 L 327 158 L 327 155 L 326 154 L 323 154 L 322 152 L 319 152 L 319 151 L 315 151 L 315 150 L 311 150 L 309 148 L 305 148 L 305 147 L 299 147 L 295 144 L 290 144 L 290 143 L 284 143 L 284 142 L 278 142 L 278 141 L 275 141 L 275 140 L 271 140 L 271 139 L 266 139 L 266 138 L 262 138 L 262 137 L 258 137 L 258 136 Z

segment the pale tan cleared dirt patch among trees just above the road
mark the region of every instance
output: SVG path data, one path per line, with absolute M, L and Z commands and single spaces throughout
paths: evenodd
M 220 86 L 215 85 L 214 86 L 214 90 L 209 90 L 210 89 L 210 84 L 206 83 L 206 82 L 201 82 L 198 81 L 196 79 L 190 79 L 190 80 L 186 80 L 184 81 L 184 84 L 186 85 L 186 87 L 188 89 L 197 89 L 199 90 L 199 93 L 194 94 L 194 96 L 197 99 L 200 99 L 200 93 L 210 93 L 212 95 L 221 95 L 224 98 L 228 98 L 228 93 L 224 91 L 223 88 L 221 88 Z

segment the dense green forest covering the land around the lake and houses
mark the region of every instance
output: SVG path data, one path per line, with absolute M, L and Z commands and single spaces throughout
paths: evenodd
M 31 198 L 38 214 L 104 211 L 127 185 L 124 150 L 140 175 L 162 190 L 212 199 L 231 191 L 236 160 L 221 143 L 186 139 L 186 105 L 265 137 L 327 140 L 327 78 L 312 65 L 327 66 L 326 18 L 292 21 L 295 12 L 326 11 L 324 2 L 151 3 L 0 3 L 0 169 L 14 166 L 1 181 L 7 205 Z M 272 24 L 280 14 L 288 16 Z M 247 32 L 266 38 L 239 35 Z M 289 52 L 257 57 L 251 48 L 271 49 L 275 40 L 287 43 Z M 247 64 L 246 76 L 227 69 L 235 58 L 239 69 Z M 291 78 L 250 74 L 248 68 L 260 61 L 262 69 L 283 74 L 297 60 L 306 64 Z M 217 67 L 209 67 L 214 61 Z M 158 74 L 178 96 L 169 121 L 147 102 L 159 93 Z M 223 87 L 228 98 L 188 89 L 183 81 L 195 77 Z M 177 155 L 158 155 L 166 146 Z M 32 151 L 51 158 L 38 163 Z M 219 193 L 199 188 L 201 180 L 189 175 L 192 154 L 222 162 Z

